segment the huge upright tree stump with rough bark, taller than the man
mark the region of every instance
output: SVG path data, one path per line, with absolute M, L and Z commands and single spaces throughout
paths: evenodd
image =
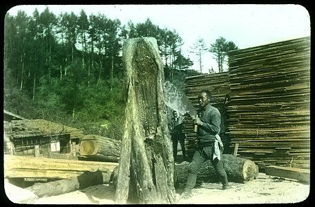
M 116 204 L 128 194 L 138 204 L 171 204 L 174 161 L 164 101 L 164 70 L 154 38 L 127 39 L 126 118 L 115 192 Z

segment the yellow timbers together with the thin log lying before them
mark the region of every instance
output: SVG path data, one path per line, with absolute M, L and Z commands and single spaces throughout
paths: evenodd
M 109 184 L 117 163 L 104 161 L 79 161 L 4 155 L 4 178 L 11 181 L 20 179 L 54 179 L 37 182 L 25 188 L 37 197 L 50 197 L 84 189 L 88 186 Z

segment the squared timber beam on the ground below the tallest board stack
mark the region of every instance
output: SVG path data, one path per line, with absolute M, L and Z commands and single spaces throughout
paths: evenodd
M 266 175 L 297 179 L 298 181 L 309 183 L 309 170 L 307 169 L 285 166 L 266 166 L 265 173 Z

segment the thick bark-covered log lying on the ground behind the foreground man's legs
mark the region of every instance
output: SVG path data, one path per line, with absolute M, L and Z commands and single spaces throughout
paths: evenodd
M 224 164 L 225 172 L 229 181 L 236 183 L 245 183 L 252 181 L 258 177 L 258 166 L 249 159 L 235 157 L 233 155 L 223 154 L 222 162 Z M 177 173 L 177 181 L 179 183 L 186 183 L 188 175 L 189 162 L 184 161 L 181 164 L 175 165 Z M 216 175 L 216 170 L 213 168 L 211 161 L 207 160 L 199 169 L 197 181 L 217 182 L 219 181 Z

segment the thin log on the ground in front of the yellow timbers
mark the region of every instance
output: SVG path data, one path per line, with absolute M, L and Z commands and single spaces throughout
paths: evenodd
M 34 193 L 37 197 L 50 197 L 105 183 L 108 183 L 107 175 L 97 170 L 95 172 L 84 172 L 77 177 L 69 177 L 48 183 L 36 183 L 25 189 Z

